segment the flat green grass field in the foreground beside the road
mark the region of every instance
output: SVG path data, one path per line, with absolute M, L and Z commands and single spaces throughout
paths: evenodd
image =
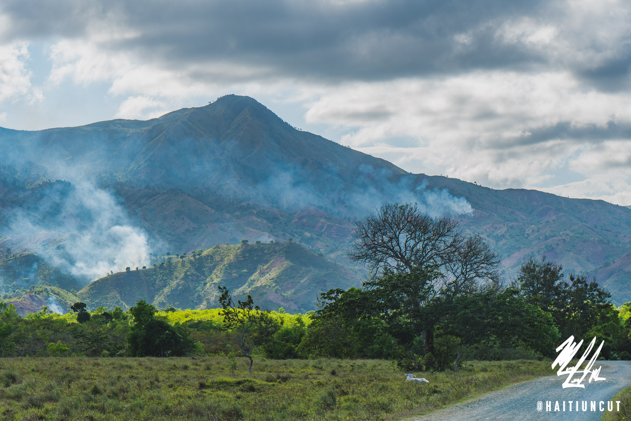
M 549 374 L 549 362 L 468 362 L 405 382 L 384 360 L 0 359 L 2 420 L 394 420 Z

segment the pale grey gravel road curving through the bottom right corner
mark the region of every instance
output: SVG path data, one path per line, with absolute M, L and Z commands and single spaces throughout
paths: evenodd
M 510 388 L 489 393 L 476 401 L 452 405 L 444 410 L 439 410 L 413 418 L 410 421 L 449 420 L 594 420 L 599 421 L 603 412 L 599 410 L 599 402 L 604 401 L 604 410 L 607 410 L 607 401 L 613 398 L 620 389 L 631 384 L 631 362 L 629 361 L 598 361 L 594 368 L 602 365 L 600 377 L 606 380 L 588 383 L 584 381 L 585 388 L 562 388 L 567 376 L 541 377 L 526 383 L 516 384 Z M 558 368 L 558 367 L 557 367 Z M 575 378 L 575 377 L 572 377 Z M 589 378 L 589 376 L 587 376 Z M 422 385 L 419 385 L 423 387 Z M 569 412 L 568 401 L 572 403 L 572 412 Z M 537 402 L 543 402 L 543 411 L 537 411 Z M 551 401 L 552 412 L 546 412 L 546 401 Z M 560 411 L 554 412 L 556 401 Z M 563 412 L 565 401 L 565 412 Z M 579 401 L 579 412 L 575 411 L 575 401 Z M 587 412 L 582 411 L 582 401 L 596 401 L 596 412 L 591 412 L 591 403 L 587 403 Z M 616 410 L 616 403 L 613 403 Z

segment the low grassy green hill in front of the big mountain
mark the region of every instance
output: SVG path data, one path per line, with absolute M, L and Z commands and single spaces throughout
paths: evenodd
M 359 283 L 357 273 L 293 242 L 245 243 L 216 245 L 183 259 L 174 256 L 150 268 L 114 273 L 77 295 L 90 308 L 127 309 L 142 299 L 158 309 L 208 309 L 218 306 L 217 285 L 223 285 L 235 299 L 251 294 L 261 308 L 305 312 L 315 309 L 320 292 Z

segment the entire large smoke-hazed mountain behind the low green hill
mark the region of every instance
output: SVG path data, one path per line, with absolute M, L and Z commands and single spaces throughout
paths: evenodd
M 114 271 L 150 266 L 167 252 L 179 256 L 240 239 L 292 238 L 313 252 L 309 256 L 322 253 L 349 266 L 355 220 L 382 203 L 414 201 L 483 235 L 500 254 L 507 278 L 528 256 L 545 254 L 567 271 L 596 276 L 616 303 L 631 300 L 629 208 L 410 174 L 294 129 L 249 97 L 227 95 L 148 121 L 0 129 L 0 147 L 0 269 L 19 256 L 37 256 L 39 266 L 56 271 L 54 279 L 64 279 L 31 276 L 23 265 L 0 270 L 5 299 L 38 283 L 65 282 L 79 290 L 98 279 L 81 292 L 88 294 L 93 285 L 119 278 L 145 282 L 153 269 Z M 102 278 L 105 273 L 110 275 Z M 205 285 L 202 275 L 196 279 L 195 294 Z M 162 287 L 150 284 L 147 290 L 162 297 Z M 85 299 L 107 301 L 95 294 Z M 297 309 L 307 308 L 286 294 L 281 292 Z M 124 294 L 121 300 L 129 304 Z M 175 305 L 173 300 L 160 303 Z M 187 305 L 209 302 L 208 295 Z

